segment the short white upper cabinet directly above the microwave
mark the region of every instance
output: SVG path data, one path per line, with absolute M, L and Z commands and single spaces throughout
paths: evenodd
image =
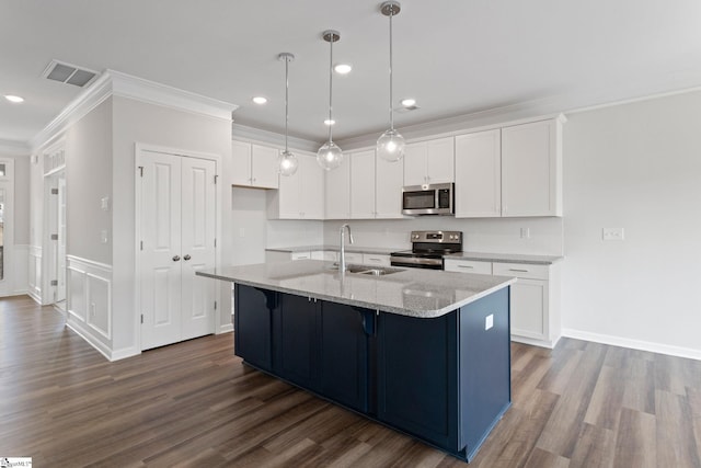
M 455 182 L 455 139 L 452 137 L 406 145 L 404 185 Z

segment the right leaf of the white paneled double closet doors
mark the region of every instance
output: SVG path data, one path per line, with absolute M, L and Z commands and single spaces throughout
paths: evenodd
M 183 340 L 214 331 L 215 282 L 195 276 L 215 266 L 215 161 L 182 159 L 182 334 Z

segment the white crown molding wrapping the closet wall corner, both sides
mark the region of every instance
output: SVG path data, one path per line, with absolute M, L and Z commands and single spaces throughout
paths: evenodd
M 227 122 L 231 122 L 231 113 L 239 109 L 235 104 L 107 69 L 32 138 L 31 148 L 37 150 L 49 145 L 66 128 L 112 95 L 222 118 Z

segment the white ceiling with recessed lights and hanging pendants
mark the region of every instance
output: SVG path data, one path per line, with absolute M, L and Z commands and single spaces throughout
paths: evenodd
M 380 0 L 0 0 L 0 140 L 27 141 L 81 91 L 48 81 L 51 59 L 114 69 L 240 105 L 234 121 L 323 141 L 334 61 L 334 139 L 388 126 L 389 20 Z M 395 126 L 549 102 L 559 111 L 701 85 L 698 0 L 401 0 Z M 269 99 L 265 106 L 253 95 Z

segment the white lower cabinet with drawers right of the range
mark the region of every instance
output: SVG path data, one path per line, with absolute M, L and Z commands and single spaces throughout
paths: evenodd
M 560 340 L 560 266 L 446 259 L 449 272 L 515 276 L 512 285 L 512 340 L 554 347 Z

